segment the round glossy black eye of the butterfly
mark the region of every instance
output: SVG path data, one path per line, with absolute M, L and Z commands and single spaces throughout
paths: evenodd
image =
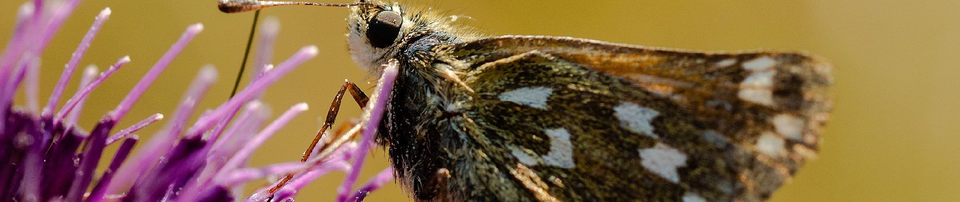
M 367 39 L 376 48 L 387 48 L 394 44 L 400 34 L 403 17 L 396 11 L 381 11 L 367 23 Z

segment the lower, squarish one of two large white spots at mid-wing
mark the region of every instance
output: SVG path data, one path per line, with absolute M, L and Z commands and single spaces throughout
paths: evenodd
M 677 173 L 677 168 L 686 165 L 686 154 L 660 143 L 654 147 L 640 148 L 639 152 L 640 165 L 643 165 L 643 168 L 660 175 L 667 181 L 680 183 L 680 174 Z

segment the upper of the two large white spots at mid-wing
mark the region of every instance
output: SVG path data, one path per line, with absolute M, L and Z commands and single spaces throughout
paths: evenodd
M 660 138 L 654 133 L 654 126 L 650 124 L 655 117 L 660 115 L 657 110 L 642 107 L 633 102 L 620 102 L 613 107 L 613 115 L 620 120 L 620 126 L 632 132 L 652 138 Z

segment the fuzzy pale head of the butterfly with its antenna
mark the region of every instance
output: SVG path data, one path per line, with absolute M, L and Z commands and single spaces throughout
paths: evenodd
M 444 42 L 473 39 L 477 35 L 475 32 L 468 31 L 468 29 L 450 25 L 450 22 L 455 20 L 457 15 L 443 17 L 429 9 L 410 9 L 401 7 L 396 3 L 387 4 L 364 0 L 348 4 L 220 0 L 217 6 L 220 11 L 224 12 L 242 12 L 288 5 L 349 8 L 347 37 L 350 55 L 361 68 L 373 72 L 379 70 L 380 65 L 386 64 L 390 58 L 408 54 L 402 52 L 409 52 L 408 48 L 410 47 L 408 46 L 420 39 L 429 38 L 431 42 L 429 45 L 420 43 L 420 46 L 418 46 L 418 49 L 414 49 L 414 52 L 425 51 L 431 45 Z M 414 52 L 410 52 L 409 55 L 415 55 Z

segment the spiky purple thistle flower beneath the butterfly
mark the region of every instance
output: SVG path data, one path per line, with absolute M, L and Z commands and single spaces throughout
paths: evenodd
M 391 89 L 396 79 L 396 66 L 387 68 L 380 79 L 366 110 L 365 123 L 355 124 L 347 132 L 332 134 L 336 138 L 327 138 L 324 146 L 318 146 L 322 149 L 314 150 L 316 155 L 306 162 L 246 167 L 257 147 L 307 110 L 306 103 L 295 104 L 260 128 L 268 118 L 268 109 L 257 98 L 267 86 L 317 55 L 316 47 L 307 46 L 276 67 L 266 64 L 278 29 L 276 20 L 268 20 L 265 22 L 268 25 L 262 26 L 268 34 L 259 40 L 260 47 L 264 48 L 258 50 L 255 63 L 264 68 L 257 69 L 258 74 L 253 74 L 255 77 L 247 88 L 217 108 L 204 112 L 195 123 L 188 123 L 188 117 L 197 112 L 196 103 L 204 98 L 217 78 L 215 68 L 202 68 L 172 118 L 149 141 L 139 143 L 134 133 L 164 119 L 163 115 L 155 114 L 120 130 L 114 127 L 204 27 L 202 24 L 189 26 L 116 108 L 86 131 L 77 125 L 77 117 L 87 96 L 132 61 L 129 56 L 123 56 L 99 75 L 96 67 L 87 67 L 79 90 L 57 109 L 79 61 L 110 15 L 110 10 L 105 9 L 96 16 L 65 65 L 50 100 L 40 109 L 36 96 L 39 56 L 79 3 L 79 0 L 36 0 L 24 4 L 17 13 L 12 38 L 0 56 L 0 162 L 3 162 L 0 200 L 234 201 L 246 198 L 245 201 L 293 201 L 306 184 L 327 172 L 345 170 L 350 174 L 341 185 L 338 201 L 359 201 L 392 179 L 393 170 L 387 168 L 367 185 L 352 190 L 375 133 L 372 129 L 363 130 L 363 125 L 376 128 L 387 98 L 386 89 Z M 25 88 L 26 107 L 14 107 L 13 98 L 21 85 Z M 364 131 L 361 141 L 351 142 L 354 134 L 361 130 Z M 116 153 L 105 153 L 104 148 L 113 144 L 120 145 Z M 139 152 L 131 155 L 134 147 L 139 147 Z M 106 171 L 97 173 L 101 158 L 110 157 L 112 161 L 106 165 Z M 350 160 L 354 162 L 348 163 Z M 241 192 L 244 182 L 287 173 L 295 175 L 285 184 L 277 182 L 248 197 Z

